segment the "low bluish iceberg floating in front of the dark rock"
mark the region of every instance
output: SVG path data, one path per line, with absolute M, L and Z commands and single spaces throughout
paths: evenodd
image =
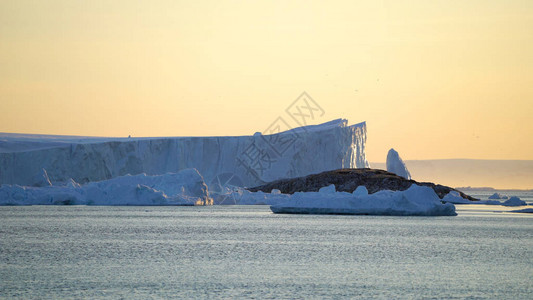
M 318 192 L 287 195 L 287 201 L 272 205 L 274 213 L 355 214 L 393 216 L 455 216 L 455 206 L 442 203 L 430 187 L 411 185 L 405 191 L 382 190 L 368 194 L 365 187 L 353 193 L 336 192 L 335 186 Z

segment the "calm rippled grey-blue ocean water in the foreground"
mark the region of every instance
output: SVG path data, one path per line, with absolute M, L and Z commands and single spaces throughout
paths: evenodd
M 0 298 L 532 299 L 533 215 L 0 207 Z

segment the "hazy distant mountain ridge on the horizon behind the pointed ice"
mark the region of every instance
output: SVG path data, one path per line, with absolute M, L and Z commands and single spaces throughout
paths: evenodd
M 533 189 L 533 160 L 434 159 L 405 160 L 414 180 L 452 187 Z M 385 163 L 371 162 L 376 169 Z

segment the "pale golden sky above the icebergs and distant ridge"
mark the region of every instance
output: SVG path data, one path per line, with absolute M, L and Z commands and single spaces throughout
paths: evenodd
M 0 132 L 245 135 L 303 91 L 367 155 L 533 159 L 533 1 L 2 1 Z

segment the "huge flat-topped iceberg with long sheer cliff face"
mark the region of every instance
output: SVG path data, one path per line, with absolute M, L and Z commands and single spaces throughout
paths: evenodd
M 339 119 L 238 137 L 81 138 L 0 134 L 0 184 L 42 186 L 195 168 L 212 186 L 255 186 L 339 168 L 368 167 L 366 124 Z

